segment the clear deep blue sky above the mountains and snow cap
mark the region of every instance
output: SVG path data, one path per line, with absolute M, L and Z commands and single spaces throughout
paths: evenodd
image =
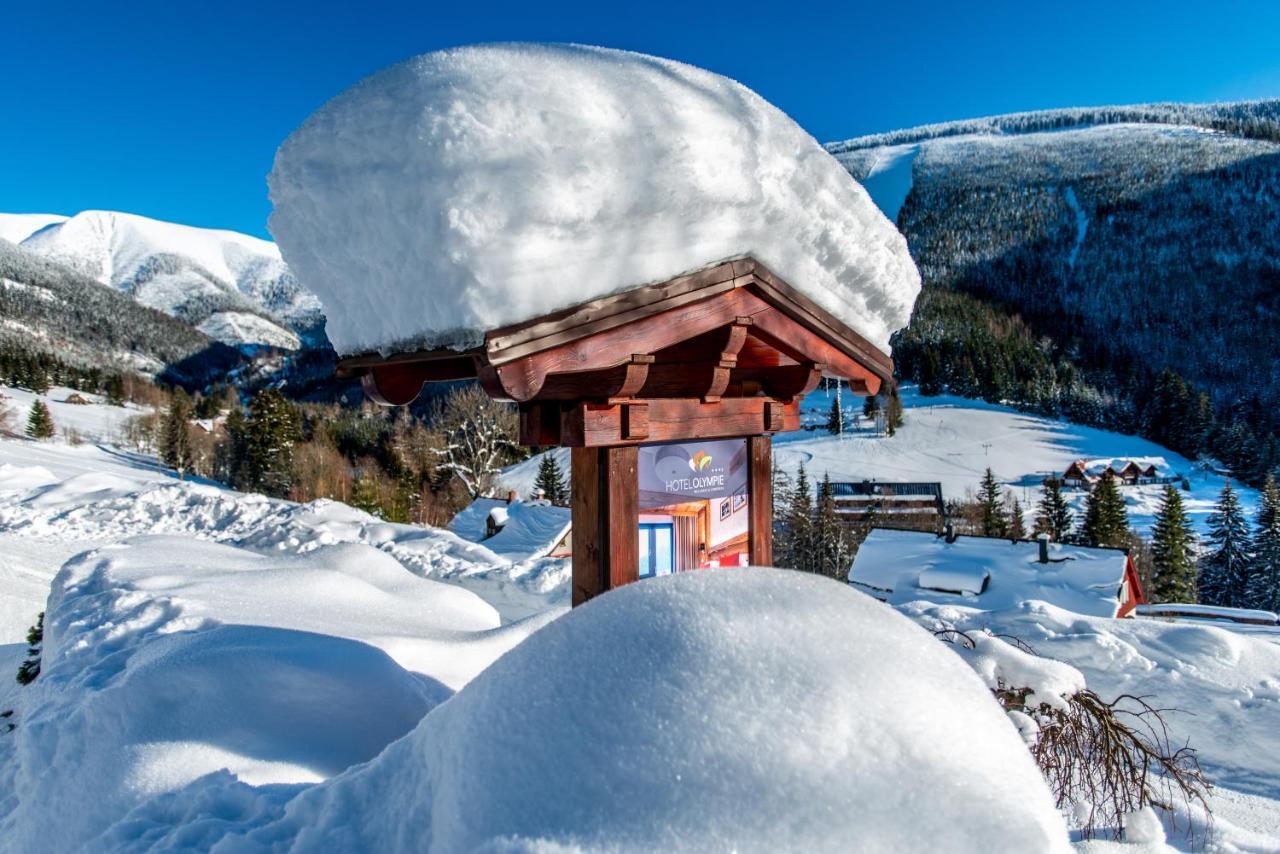
M 1280 96 L 1280 3 L 26 3 L 0 49 L 0 211 L 266 236 L 279 142 L 413 54 L 576 41 L 733 77 L 818 140 L 1014 110 Z

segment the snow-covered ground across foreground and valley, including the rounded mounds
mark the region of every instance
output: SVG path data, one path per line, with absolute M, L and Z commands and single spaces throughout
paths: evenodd
M 29 393 L 3 393 L 24 416 Z M 1009 753 L 1016 730 L 977 695 L 972 714 L 933 714 L 970 702 L 969 671 L 940 665 L 960 658 L 887 606 L 819 579 L 726 571 L 640 584 L 561 618 L 563 561 L 512 563 L 334 502 L 179 481 L 110 443 L 131 412 L 58 403 L 65 394 L 46 396 L 55 421 L 101 440 L 0 439 L 5 672 L 47 599 L 44 673 L 24 689 L 0 681 L 0 711 L 17 709 L 0 735 L 0 849 L 901 849 L 945 832 L 954 849 L 1052 846 L 1043 834 L 1060 819 L 1025 794 L 1042 784 Z M 948 490 L 987 460 L 1015 484 L 1075 456 L 1180 465 L 1139 439 L 1001 407 L 908 403 L 892 439 L 801 433 L 780 439 L 780 458 L 849 478 L 936 471 Z M 1174 735 L 1219 785 L 1215 850 L 1280 850 L 1274 635 L 1034 602 L 899 611 L 1021 638 L 1103 697 L 1181 709 Z M 951 732 L 960 718 L 968 729 Z M 902 776 L 870 775 L 867 752 Z M 1007 777 L 986 771 L 997 766 Z M 931 794 L 927 812 L 950 831 L 893 798 L 940 769 L 956 793 Z M 612 793 L 608 804 L 588 803 L 591 791 Z M 620 798 L 630 809 L 612 808 Z

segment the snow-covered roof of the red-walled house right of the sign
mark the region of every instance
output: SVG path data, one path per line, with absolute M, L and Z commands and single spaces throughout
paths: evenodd
M 874 529 L 859 547 L 850 583 L 893 604 L 927 599 L 987 611 L 1038 599 L 1076 613 L 1114 617 L 1128 556 L 1120 549 Z M 988 575 L 986 589 L 980 579 Z M 965 584 L 961 584 L 964 581 Z M 963 590 L 965 593 L 956 593 Z

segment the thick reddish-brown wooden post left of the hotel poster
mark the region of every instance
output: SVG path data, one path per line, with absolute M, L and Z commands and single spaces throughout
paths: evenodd
M 573 606 L 640 577 L 635 446 L 573 448 Z

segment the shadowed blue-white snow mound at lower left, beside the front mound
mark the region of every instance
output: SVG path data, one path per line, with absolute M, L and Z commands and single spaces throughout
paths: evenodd
M 42 671 L 0 743 L 0 848 L 76 850 L 205 775 L 332 777 L 552 617 L 499 627 L 475 594 L 367 545 L 86 552 L 54 580 Z

